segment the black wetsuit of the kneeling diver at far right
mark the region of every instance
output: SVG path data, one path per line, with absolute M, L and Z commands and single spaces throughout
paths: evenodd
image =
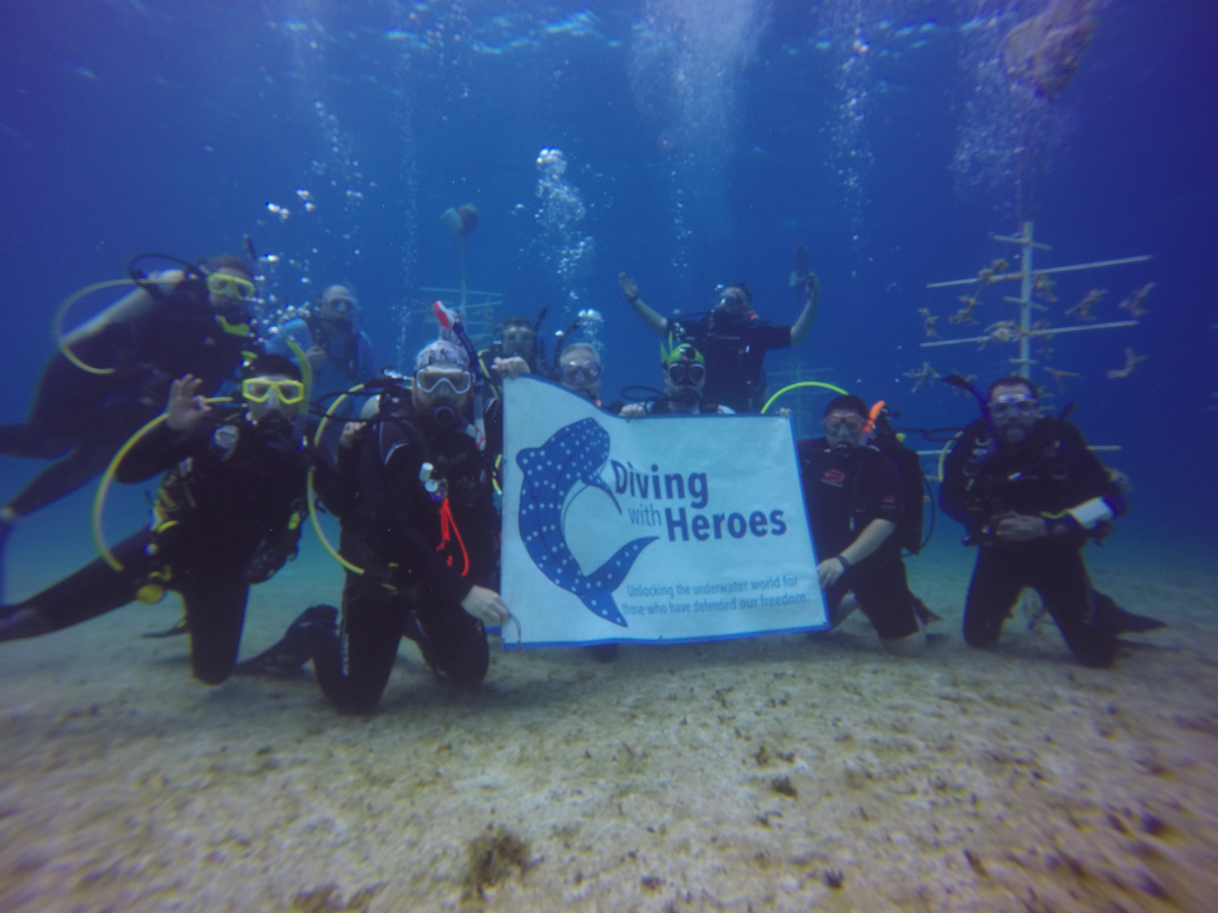
M 1019 593 L 1030 587 L 1083 665 L 1112 665 L 1116 606 L 1091 589 L 1082 555 L 1088 533 L 1002 542 L 990 528 L 1007 511 L 1055 517 L 1094 498 L 1123 502 L 1074 425 L 1041 419 L 1023 446 L 1000 447 L 983 421 L 973 422 L 944 463 L 939 495 L 944 512 L 965 523 L 970 544 L 979 545 L 965 605 L 971 646 L 996 643 Z

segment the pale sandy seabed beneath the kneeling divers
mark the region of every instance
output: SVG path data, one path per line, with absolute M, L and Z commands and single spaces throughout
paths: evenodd
M 169 601 L 0 645 L 0 909 L 1218 909 L 1212 558 L 1093 556 L 1170 623 L 1112 671 L 1018 614 L 967 649 L 971 558 L 910 562 L 944 616 L 917 660 L 856 615 L 611 665 L 495 651 L 465 693 L 404 644 L 368 718 L 307 670 L 197 684 L 183 640 L 139 638 Z M 336 584 L 311 550 L 258 588 L 246 652 Z M 479 890 L 470 845 L 504 833 L 523 864 Z

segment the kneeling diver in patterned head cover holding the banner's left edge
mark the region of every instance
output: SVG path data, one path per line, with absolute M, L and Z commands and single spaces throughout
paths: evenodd
M 341 556 L 359 568 L 347 570 L 341 627 L 329 606 L 308 609 L 239 671 L 291 674 L 312 660 L 340 713 L 367 713 L 406 635 L 437 677 L 482 680 L 484 624 L 512 615 L 491 589 L 499 521 L 487 454 L 465 419 L 473 380 L 469 353 L 437 340 L 419 352 L 409 390 L 386 386 L 374 415 L 347 422 L 337 472 L 322 489 L 342 526 Z

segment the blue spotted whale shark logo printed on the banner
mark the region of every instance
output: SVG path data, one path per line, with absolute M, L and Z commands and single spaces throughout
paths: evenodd
M 593 419 L 583 419 L 559 429 L 541 447 L 516 454 L 524 472 L 520 487 L 520 539 L 529 558 L 552 582 L 579 596 L 597 617 L 626 627 L 613 592 L 630 573 L 639 553 L 658 536 L 628 542 L 592 573 L 585 576 L 563 532 L 563 505 L 577 483 L 599 488 L 618 499 L 600 478 L 609 460 L 609 432 Z

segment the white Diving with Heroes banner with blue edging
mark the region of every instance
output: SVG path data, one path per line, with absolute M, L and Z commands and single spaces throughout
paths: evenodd
M 627 421 L 530 375 L 504 396 L 503 600 L 523 646 L 828 626 L 787 419 Z

